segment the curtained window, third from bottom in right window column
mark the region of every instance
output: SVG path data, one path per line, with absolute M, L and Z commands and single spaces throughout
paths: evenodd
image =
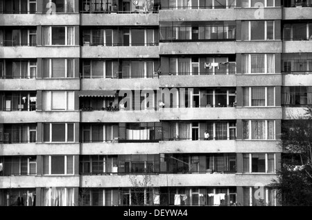
M 275 121 L 243 121 L 243 139 L 275 139 Z

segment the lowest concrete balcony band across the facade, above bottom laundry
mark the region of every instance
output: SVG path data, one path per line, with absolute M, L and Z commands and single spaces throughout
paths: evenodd
M 159 174 L 151 175 L 154 187 L 254 186 L 268 185 L 275 174 Z M 136 176 L 137 179 L 143 176 Z M 129 175 L 116 176 L 10 176 L 0 177 L 0 189 L 34 187 L 132 187 Z

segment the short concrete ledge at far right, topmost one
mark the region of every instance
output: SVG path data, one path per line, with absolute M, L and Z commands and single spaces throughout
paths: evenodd
M 312 8 L 283 8 L 284 20 L 312 19 Z

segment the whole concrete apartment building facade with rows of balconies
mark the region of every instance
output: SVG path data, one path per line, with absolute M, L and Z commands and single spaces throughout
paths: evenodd
M 280 205 L 311 73 L 309 0 L 1 0 L 0 205 Z

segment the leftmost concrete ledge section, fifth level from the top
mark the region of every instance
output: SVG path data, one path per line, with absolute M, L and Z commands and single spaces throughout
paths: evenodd
M 1 144 L 0 155 L 79 155 L 80 144 Z

